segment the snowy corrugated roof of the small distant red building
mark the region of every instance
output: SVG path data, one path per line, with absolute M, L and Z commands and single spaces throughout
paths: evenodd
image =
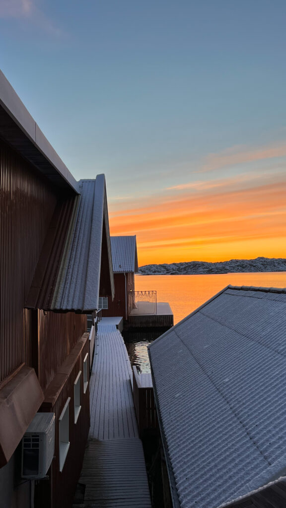
M 111 236 L 113 272 L 138 271 L 137 246 L 135 236 Z

